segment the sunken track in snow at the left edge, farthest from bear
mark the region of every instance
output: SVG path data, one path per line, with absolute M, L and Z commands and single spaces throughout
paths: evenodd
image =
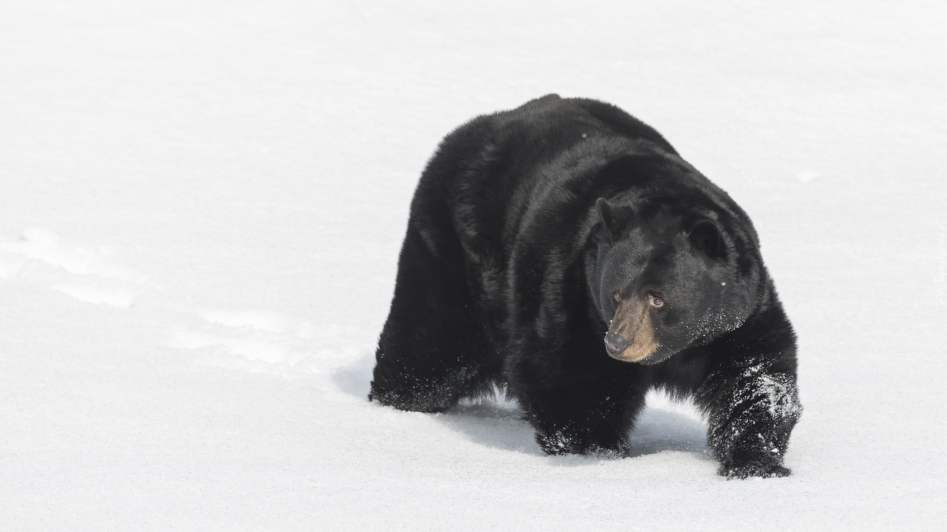
M 107 246 L 73 247 L 56 233 L 27 227 L 12 240 L 0 239 L 0 279 L 21 280 L 65 293 L 80 301 L 128 308 L 134 290 L 148 279 L 112 258 Z

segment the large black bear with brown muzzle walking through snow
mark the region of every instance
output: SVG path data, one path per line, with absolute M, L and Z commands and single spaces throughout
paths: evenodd
M 448 134 L 420 177 L 369 400 L 500 385 L 545 452 L 629 452 L 693 397 L 727 478 L 785 476 L 795 332 L 746 213 L 617 107 L 549 95 Z

